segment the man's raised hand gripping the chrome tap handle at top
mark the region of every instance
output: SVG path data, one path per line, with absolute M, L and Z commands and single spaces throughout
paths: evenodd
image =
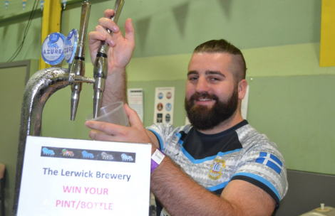
M 96 31 L 88 33 L 88 47 L 90 49 L 91 60 L 94 64 L 96 54 L 100 46 L 100 41 L 105 41 L 110 45 L 108 49 L 108 74 L 113 71 L 124 70 L 125 66 L 130 62 L 133 50 L 135 48 L 135 30 L 130 18 L 125 21 L 125 37 L 120 32 L 120 28 L 110 19 L 114 15 L 114 11 L 107 9 L 104 17 L 100 18 Z M 113 31 L 113 36 L 105 30 L 106 28 Z

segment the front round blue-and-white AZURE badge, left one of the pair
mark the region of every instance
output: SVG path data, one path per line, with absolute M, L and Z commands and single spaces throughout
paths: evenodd
M 49 65 L 58 65 L 64 59 L 65 36 L 61 33 L 51 33 L 43 41 L 41 54 L 43 60 Z

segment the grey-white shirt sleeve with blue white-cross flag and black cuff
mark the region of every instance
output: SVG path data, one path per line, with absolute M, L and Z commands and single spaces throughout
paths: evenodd
M 246 180 L 265 190 L 277 204 L 287 193 L 287 171 L 282 154 L 269 140 L 247 149 L 231 180 Z

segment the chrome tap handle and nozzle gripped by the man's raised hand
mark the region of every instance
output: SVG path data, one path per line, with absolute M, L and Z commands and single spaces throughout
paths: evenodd
M 114 23 L 118 23 L 118 18 L 122 11 L 123 4 L 125 1 L 116 0 L 114 11 L 115 14 L 110 19 Z M 113 31 L 107 29 L 110 35 L 113 34 Z M 93 77 L 96 80 L 93 85 L 94 95 L 93 95 L 93 117 L 98 117 L 98 112 L 101 108 L 103 102 L 103 91 L 105 91 L 105 79 L 107 77 L 107 52 L 108 52 L 108 43 L 102 41 L 98 49 L 98 54 L 96 55 L 96 62 L 94 63 Z

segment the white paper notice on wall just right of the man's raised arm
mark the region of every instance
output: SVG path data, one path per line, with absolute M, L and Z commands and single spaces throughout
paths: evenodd
M 138 113 L 143 123 L 143 89 L 128 89 L 128 105 Z

